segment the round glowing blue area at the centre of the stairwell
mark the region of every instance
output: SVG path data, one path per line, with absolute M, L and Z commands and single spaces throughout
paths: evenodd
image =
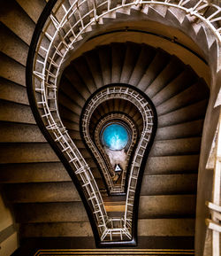
M 103 130 L 103 144 L 111 151 L 120 151 L 128 143 L 128 133 L 126 128 L 120 124 L 110 124 Z

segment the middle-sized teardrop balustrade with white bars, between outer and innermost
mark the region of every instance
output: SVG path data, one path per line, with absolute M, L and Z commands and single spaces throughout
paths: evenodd
M 95 97 L 92 97 L 88 102 L 88 105 L 84 111 L 82 117 L 82 133 L 87 144 L 90 146 L 91 151 L 95 154 L 95 157 L 98 158 L 99 163 L 101 163 L 104 176 L 108 177 L 108 184 L 111 186 L 110 174 L 108 169 L 105 166 L 105 163 L 101 159 L 99 151 L 97 151 L 93 140 L 89 135 L 89 120 L 95 111 L 96 107 L 102 104 L 104 101 L 113 99 L 113 98 L 123 98 L 135 105 L 138 110 L 141 112 L 143 119 L 143 129 L 141 132 L 141 138 L 139 144 L 136 147 L 134 152 L 132 166 L 130 168 L 130 175 L 128 181 L 128 187 L 126 192 L 126 211 L 125 218 L 120 221 L 116 218 L 110 218 L 108 223 L 110 228 L 107 225 L 107 229 L 104 231 L 102 240 L 112 234 L 119 234 L 120 239 L 122 240 L 122 234 L 126 234 L 126 237 L 132 238 L 132 221 L 133 221 L 133 203 L 136 193 L 137 182 L 140 175 L 141 162 L 145 151 L 148 149 L 148 145 L 151 139 L 152 134 L 154 134 L 153 127 L 156 126 L 156 113 L 154 112 L 153 107 L 149 104 L 145 97 L 142 97 L 141 94 L 134 89 L 129 89 L 127 87 L 121 86 L 111 86 L 106 89 L 103 89 L 95 94 Z M 110 187 L 112 188 L 112 187 Z M 118 222 L 118 228 L 115 228 L 115 222 Z

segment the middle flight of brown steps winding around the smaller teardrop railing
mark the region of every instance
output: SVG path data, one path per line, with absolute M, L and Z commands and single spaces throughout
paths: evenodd
M 156 105 L 158 115 L 156 139 L 141 185 L 139 236 L 192 237 L 207 85 L 179 58 L 129 42 L 97 47 L 65 68 L 58 92 L 61 119 L 92 168 L 110 216 L 124 212 L 125 197 L 107 196 L 99 167 L 80 136 L 80 113 L 95 89 L 111 83 L 141 89 Z M 93 122 L 108 112 L 125 112 L 139 126 L 139 113 L 120 100 L 104 102 Z

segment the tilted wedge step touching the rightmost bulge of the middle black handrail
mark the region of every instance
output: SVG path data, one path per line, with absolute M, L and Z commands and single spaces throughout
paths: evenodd
M 182 107 L 173 112 L 158 116 L 158 128 L 164 128 L 191 120 L 202 119 L 204 118 L 207 104 L 208 100 L 205 99 L 192 105 Z

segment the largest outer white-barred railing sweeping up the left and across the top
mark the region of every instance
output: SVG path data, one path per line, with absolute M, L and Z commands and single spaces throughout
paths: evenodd
M 27 91 L 34 117 L 57 155 L 64 159 L 66 166 L 72 166 L 69 173 L 79 177 L 79 186 L 85 191 L 81 196 L 87 198 L 88 207 L 93 208 L 92 219 L 100 237 L 103 237 L 108 219 L 103 198 L 87 162 L 72 143 L 60 119 L 57 108 L 58 81 L 68 52 L 77 47 L 76 43 L 92 29 L 93 24 L 102 23 L 106 15 L 114 14 L 119 9 L 142 10 L 144 6 L 151 5 L 175 7 L 189 13 L 209 27 L 221 42 L 221 8 L 209 0 L 76 0 L 72 4 L 67 0 L 50 0 L 34 30 L 27 58 Z M 130 176 L 129 183 L 132 180 L 133 176 Z M 128 206 L 129 198 L 126 201 Z

